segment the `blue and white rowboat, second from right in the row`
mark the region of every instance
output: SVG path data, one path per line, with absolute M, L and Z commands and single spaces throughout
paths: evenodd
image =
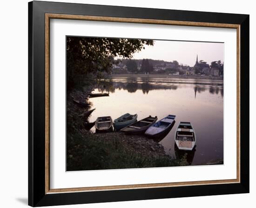
M 147 129 L 145 134 L 150 137 L 161 136 L 173 127 L 175 117 L 175 115 L 168 115 L 165 118 L 157 121 L 155 124 Z

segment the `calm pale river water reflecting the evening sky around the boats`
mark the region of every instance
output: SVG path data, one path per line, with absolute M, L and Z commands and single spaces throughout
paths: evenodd
M 222 80 L 120 76 L 102 82 L 94 90 L 99 92 L 109 92 L 109 96 L 89 99 L 96 108 L 90 121 L 108 115 L 114 120 L 124 113 L 138 113 L 138 120 L 148 115 L 160 120 L 174 114 L 173 128 L 158 139 L 166 153 L 174 158 L 184 155 L 175 148 L 174 135 L 180 121 L 190 121 L 195 128 L 196 146 L 187 156 L 189 164 L 223 159 Z

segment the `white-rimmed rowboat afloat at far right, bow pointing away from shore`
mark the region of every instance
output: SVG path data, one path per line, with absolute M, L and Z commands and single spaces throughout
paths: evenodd
M 175 144 L 179 150 L 193 150 L 195 146 L 195 130 L 190 122 L 180 122 L 175 132 Z

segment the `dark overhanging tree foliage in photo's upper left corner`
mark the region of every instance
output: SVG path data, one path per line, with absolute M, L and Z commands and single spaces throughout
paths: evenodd
M 145 39 L 67 37 L 67 84 L 74 84 L 74 77 L 81 74 L 101 78 L 111 72 L 114 57 L 132 58 L 144 45 L 153 44 Z

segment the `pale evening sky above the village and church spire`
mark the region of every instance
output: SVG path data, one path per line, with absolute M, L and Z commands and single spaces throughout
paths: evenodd
M 196 54 L 198 61 L 207 63 L 224 59 L 223 43 L 186 42 L 155 40 L 154 46 L 145 45 L 145 49 L 134 53 L 134 59 L 155 59 L 164 61 L 178 61 L 182 64 L 194 66 Z

